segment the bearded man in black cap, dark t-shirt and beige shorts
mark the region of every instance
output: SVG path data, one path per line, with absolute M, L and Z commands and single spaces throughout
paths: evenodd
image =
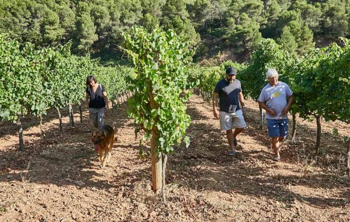
M 246 127 L 243 117 L 245 115 L 244 97 L 241 82 L 236 79 L 236 73 L 236 69 L 233 67 L 226 69 L 226 78 L 216 84 L 212 100 L 214 117 L 220 119 L 220 129 L 226 131 L 228 145 L 231 149 L 229 155 L 236 154 L 236 137 Z M 220 99 L 220 112 L 217 110 L 218 97 Z M 241 103 L 242 109 L 239 103 Z M 235 131 L 232 132 L 232 129 Z

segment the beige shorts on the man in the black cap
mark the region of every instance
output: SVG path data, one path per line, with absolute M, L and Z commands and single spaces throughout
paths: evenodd
M 220 129 L 230 130 L 235 128 L 245 128 L 245 120 L 242 110 L 238 110 L 235 113 L 227 113 L 220 111 Z

